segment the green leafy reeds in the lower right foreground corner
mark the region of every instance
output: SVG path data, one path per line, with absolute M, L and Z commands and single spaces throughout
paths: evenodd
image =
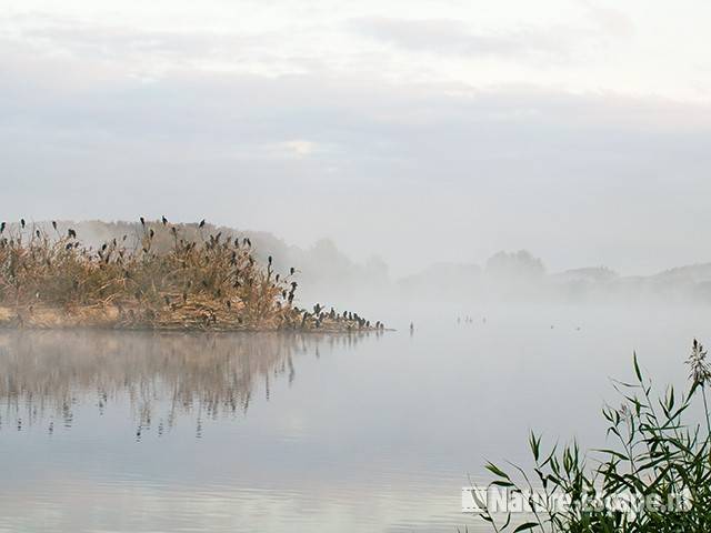
M 564 509 L 532 505 L 532 520 L 521 523 L 508 514 L 503 520 L 485 511 L 481 517 L 494 531 L 552 532 L 709 532 L 711 531 L 711 418 L 707 386 L 711 369 L 703 346 L 693 341 L 690 385 L 678 395 L 673 388 L 657 398 L 634 358 L 634 383 L 617 383 L 622 395 L 619 408 L 605 408 L 608 435 L 615 444 L 581 454 L 577 444 L 549 453 L 541 439 L 531 434 L 535 467 L 530 474 L 514 466 L 517 475 L 492 463 L 491 486 L 519 494 L 541 490 L 544 500 L 565 496 Z M 684 416 L 699 416 L 695 423 Z M 538 485 L 534 487 L 534 484 Z M 618 506 L 620 496 L 643 505 Z M 533 503 L 533 502 L 531 502 Z

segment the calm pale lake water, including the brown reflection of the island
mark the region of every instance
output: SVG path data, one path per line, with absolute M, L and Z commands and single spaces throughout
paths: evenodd
M 708 319 L 442 305 L 369 335 L 0 332 L 0 532 L 472 531 L 468 475 L 525 464 L 530 429 L 600 444 L 632 351 L 683 382 Z

